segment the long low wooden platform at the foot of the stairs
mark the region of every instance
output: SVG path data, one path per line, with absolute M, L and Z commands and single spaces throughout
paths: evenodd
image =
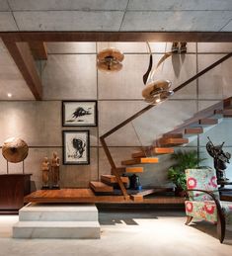
M 96 196 L 91 189 L 38 190 L 27 197 L 25 203 L 131 203 L 131 204 L 181 204 L 184 198 L 154 196 L 143 202 L 134 202 L 129 196 Z

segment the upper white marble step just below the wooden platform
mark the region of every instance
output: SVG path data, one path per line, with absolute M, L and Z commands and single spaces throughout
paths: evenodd
M 19 211 L 20 221 L 97 221 L 95 205 L 28 204 Z

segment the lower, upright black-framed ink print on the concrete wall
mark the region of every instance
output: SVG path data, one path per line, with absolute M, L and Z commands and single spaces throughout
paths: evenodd
M 89 130 L 63 130 L 63 164 L 90 164 Z

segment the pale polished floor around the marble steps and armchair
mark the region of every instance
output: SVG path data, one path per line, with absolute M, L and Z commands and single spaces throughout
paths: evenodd
M 132 213 L 131 213 L 132 212 Z M 186 226 L 179 211 L 101 211 L 101 239 L 13 239 L 18 215 L 0 215 L 1 256 L 226 256 L 232 253 L 232 226 L 223 244 L 213 224 L 195 221 Z

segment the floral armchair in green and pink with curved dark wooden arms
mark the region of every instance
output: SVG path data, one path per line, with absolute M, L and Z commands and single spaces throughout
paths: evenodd
M 212 169 L 187 169 L 189 200 L 185 202 L 187 222 L 193 217 L 203 218 L 217 224 L 218 239 L 225 237 L 226 223 L 232 223 L 232 202 L 220 201 L 216 173 Z

